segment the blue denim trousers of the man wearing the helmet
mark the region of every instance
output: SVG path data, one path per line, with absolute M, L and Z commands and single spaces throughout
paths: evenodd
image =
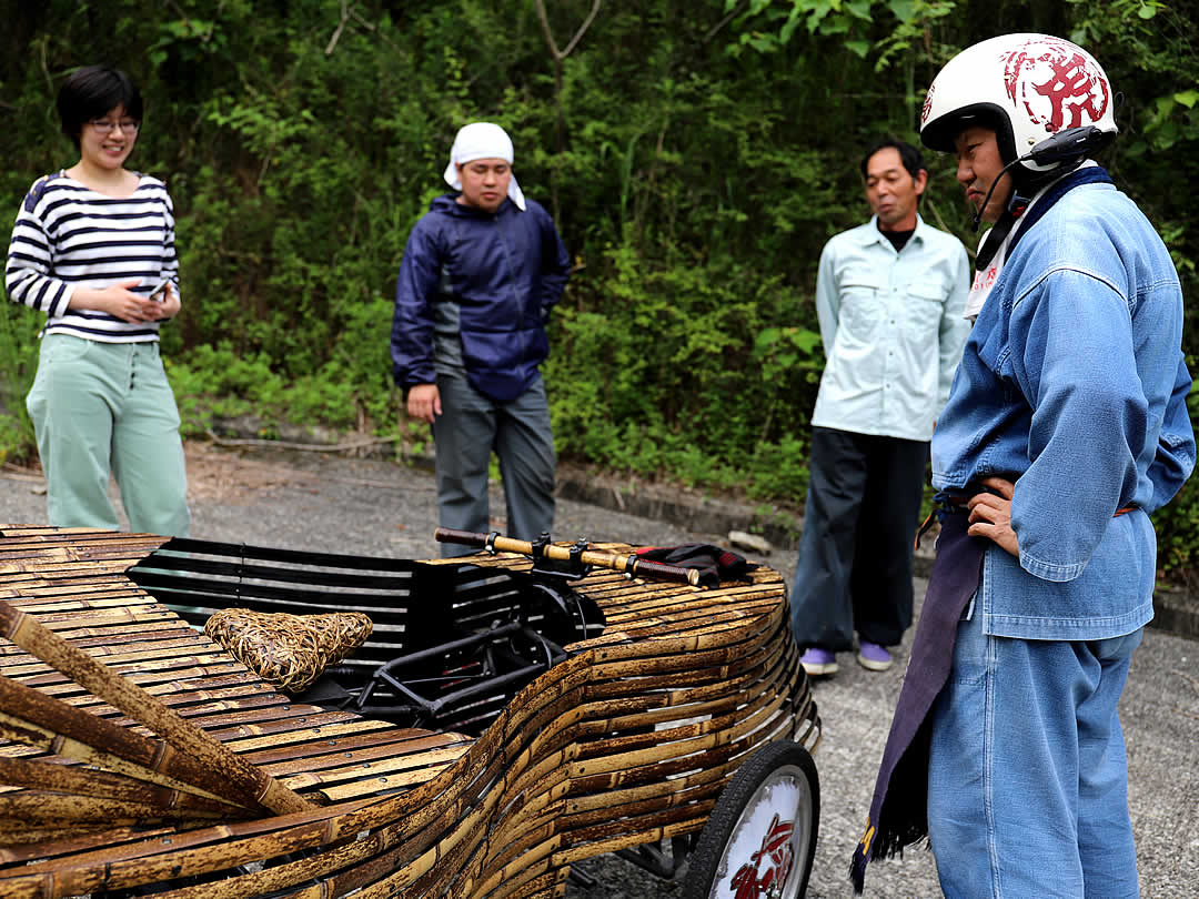
M 1116 704 L 1141 630 L 1018 640 L 984 634 L 982 617 L 959 622 L 930 712 L 928 832 L 941 889 L 1139 895 Z

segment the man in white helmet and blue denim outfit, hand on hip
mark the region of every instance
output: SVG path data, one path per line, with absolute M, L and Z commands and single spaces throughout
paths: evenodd
M 1090 159 L 1111 102 L 1090 54 L 1046 35 L 976 44 L 928 91 L 921 140 L 957 155 L 994 228 L 933 435 L 938 561 L 858 888 L 927 833 L 947 895 L 1138 895 L 1116 702 L 1153 614 L 1149 514 L 1195 444 L 1177 273 Z

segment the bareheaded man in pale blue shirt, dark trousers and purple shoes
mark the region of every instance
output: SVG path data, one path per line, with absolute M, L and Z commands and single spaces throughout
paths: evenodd
M 869 670 L 912 619 L 912 541 L 933 424 L 970 331 L 965 248 L 917 213 L 920 151 L 881 140 L 862 159 L 874 217 L 825 245 L 817 313 L 827 363 L 812 416 L 791 626 L 809 675 L 852 650 Z

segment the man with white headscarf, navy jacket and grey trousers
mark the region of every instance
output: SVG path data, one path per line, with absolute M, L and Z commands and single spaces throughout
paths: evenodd
M 463 127 L 446 182 L 404 248 L 391 330 L 408 414 L 433 426 L 442 527 L 488 532 L 490 454 L 500 460 L 507 533 L 554 521 L 554 438 L 538 366 L 570 257 L 553 219 L 512 174 L 498 125 Z M 442 543 L 442 555 L 471 550 Z

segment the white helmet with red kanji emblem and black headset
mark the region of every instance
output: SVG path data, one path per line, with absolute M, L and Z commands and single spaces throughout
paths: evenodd
M 1098 145 L 1110 141 L 1116 134 L 1113 105 L 1107 74 L 1081 47 L 1050 35 L 1004 35 L 945 65 L 924 98 L 920 139 L 930 150 L 953 152 L 963 128 L 983 125 L 995 129 L 1010 163 L 1067 128 L 1095 126 L 1102 132 Z M 1034 175 L 1062 164 L 1024 161 L 1016 170 Z

